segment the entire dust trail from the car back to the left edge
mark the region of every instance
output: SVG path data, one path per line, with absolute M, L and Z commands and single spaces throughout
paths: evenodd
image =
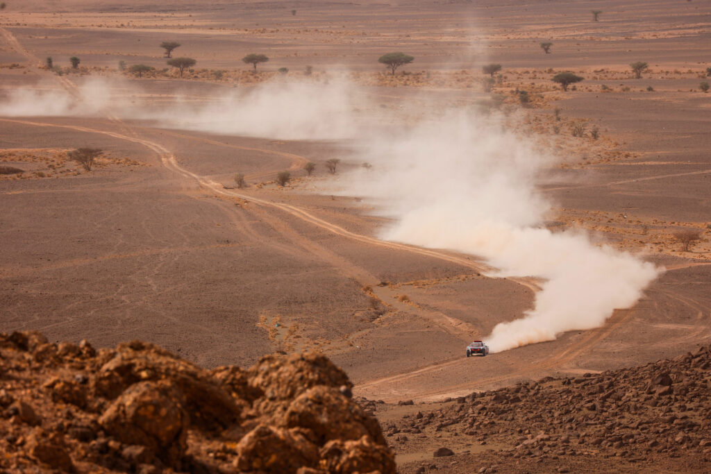
M 553 163 L 527 139 L 460 104 L 442 111 L 428 99 L 375 104 L 345 80 L 276 81 L 257 87 L 156 97 L 128 81 L 86 80 L 77 90 L 10 91 L 4 116 L 99 116 L 166 128 L 274 139 L 351 139 L 351 159 L 368 162 L 324 186 L 367 199 L 392 224 L 380 238 L 473 254 L 493 276 L 535 279 L 535 306 L 486 338 L 492 352 L 553 340 L 602 325 L 628 308 L 661 269 L 594 242 L 581 230 L 543 226 L 550 203 L 535 183 Z

